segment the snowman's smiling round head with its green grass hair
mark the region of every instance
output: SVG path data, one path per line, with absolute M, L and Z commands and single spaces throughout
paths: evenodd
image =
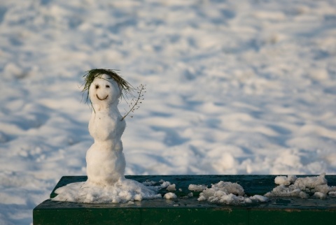
M 83 92 L 87 91 L 87 100 L 90 98 L 92 106 L 109 106 L 118 103 L 124 92 L 131 92 L 132 86 L 115 71 L 95 68 L 87 71 Z

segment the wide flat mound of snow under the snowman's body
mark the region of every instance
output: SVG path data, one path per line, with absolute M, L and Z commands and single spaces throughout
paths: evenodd
M 52 201 L 77 203 L 127 203 L 143 199 L 161 198 L 160 194 L 136 180 L 120 179 L 113 185 L 73 182 L 55 190 Z

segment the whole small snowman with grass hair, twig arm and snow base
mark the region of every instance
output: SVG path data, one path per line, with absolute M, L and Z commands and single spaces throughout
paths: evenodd
M 131 93 L 132 90 L 127 81 L 111 70 L 96 68 L 85 75 L 83 91 L 87 91 L 87 100 L 90 98 L 92 104 L 89 132 L 94 138 L 86 153 L 87 181 L 59 187 L 52 201 L 125 203 L 162 197 L 157 194 L 157 188 L 125 178 L 126 161 L 121 136 L 128 113 L 122 117 L 118 103 L 123 92 Z M 136 105 L 137 102 L 129 113 Z

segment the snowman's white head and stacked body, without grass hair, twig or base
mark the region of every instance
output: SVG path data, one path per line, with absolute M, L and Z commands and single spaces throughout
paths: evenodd
M 121 136 L 126 123 L 118 110 L 120 88 L 109 75 L 102 75 L 94 78 L 89 93 L 94 109 L 89 132 L 94 143 L 86 154 L 87 183 L 113 185 L 125 179 Z

